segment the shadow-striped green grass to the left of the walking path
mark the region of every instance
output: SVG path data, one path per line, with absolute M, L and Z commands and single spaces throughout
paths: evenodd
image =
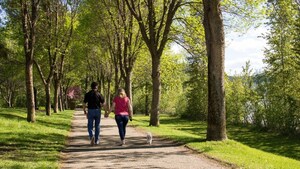
M 0 168 L 59 168 L 73 111 L 45 114 L 28 123 L 25 109 L 0 108 Z

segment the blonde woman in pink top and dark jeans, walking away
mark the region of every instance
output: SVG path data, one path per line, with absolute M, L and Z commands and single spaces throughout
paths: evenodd
M 132 120 L 132 106 L 124 89 L 118 89 L 118 95 L 114 98 L 111 110 L 115 112 L 115 120 L 118 125 L 121 146 L 125 144 L 126 126 L 128 119 Z M 109 111 L 111 112 L 111 111 Z M 108 114 L 106 115 L 108 116 Z

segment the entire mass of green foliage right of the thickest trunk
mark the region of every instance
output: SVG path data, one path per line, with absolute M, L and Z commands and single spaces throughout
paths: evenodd
M 299 133 L 299 58 L 297 58 L 297 17 L 294 1 L 270 1 L 265 35 L 268 65 L 264 73 L 252 75 L 246 63 L 241 75 L 226 83 L 226 110 L 229 122 L 251 123 L 285 134 Z

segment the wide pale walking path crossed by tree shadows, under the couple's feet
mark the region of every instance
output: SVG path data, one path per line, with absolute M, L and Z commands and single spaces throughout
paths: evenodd
M 62 152 L 63 169 L 219 169 L 218 162 L 166 139 L 153 136 L 146 144 L 146 134 L 127 127 L 126 145 L 118 146 L 119 135 L 114 119 L 102 118 L 100 144 L 91 146 L 83 111 L 75 111 L 67 148 Z

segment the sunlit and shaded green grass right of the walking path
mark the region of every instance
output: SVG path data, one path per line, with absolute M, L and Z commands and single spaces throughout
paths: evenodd
M 206 123 L 160 117 L 160 127 L 149 127 L 149 117 L 135 116 L 133 125 L 167 137 L 225 163 L 245 169 L 300 169 L 300 138 L 284 137 L 247 127 L 228 126 L 226 141 L 205 141 Z

